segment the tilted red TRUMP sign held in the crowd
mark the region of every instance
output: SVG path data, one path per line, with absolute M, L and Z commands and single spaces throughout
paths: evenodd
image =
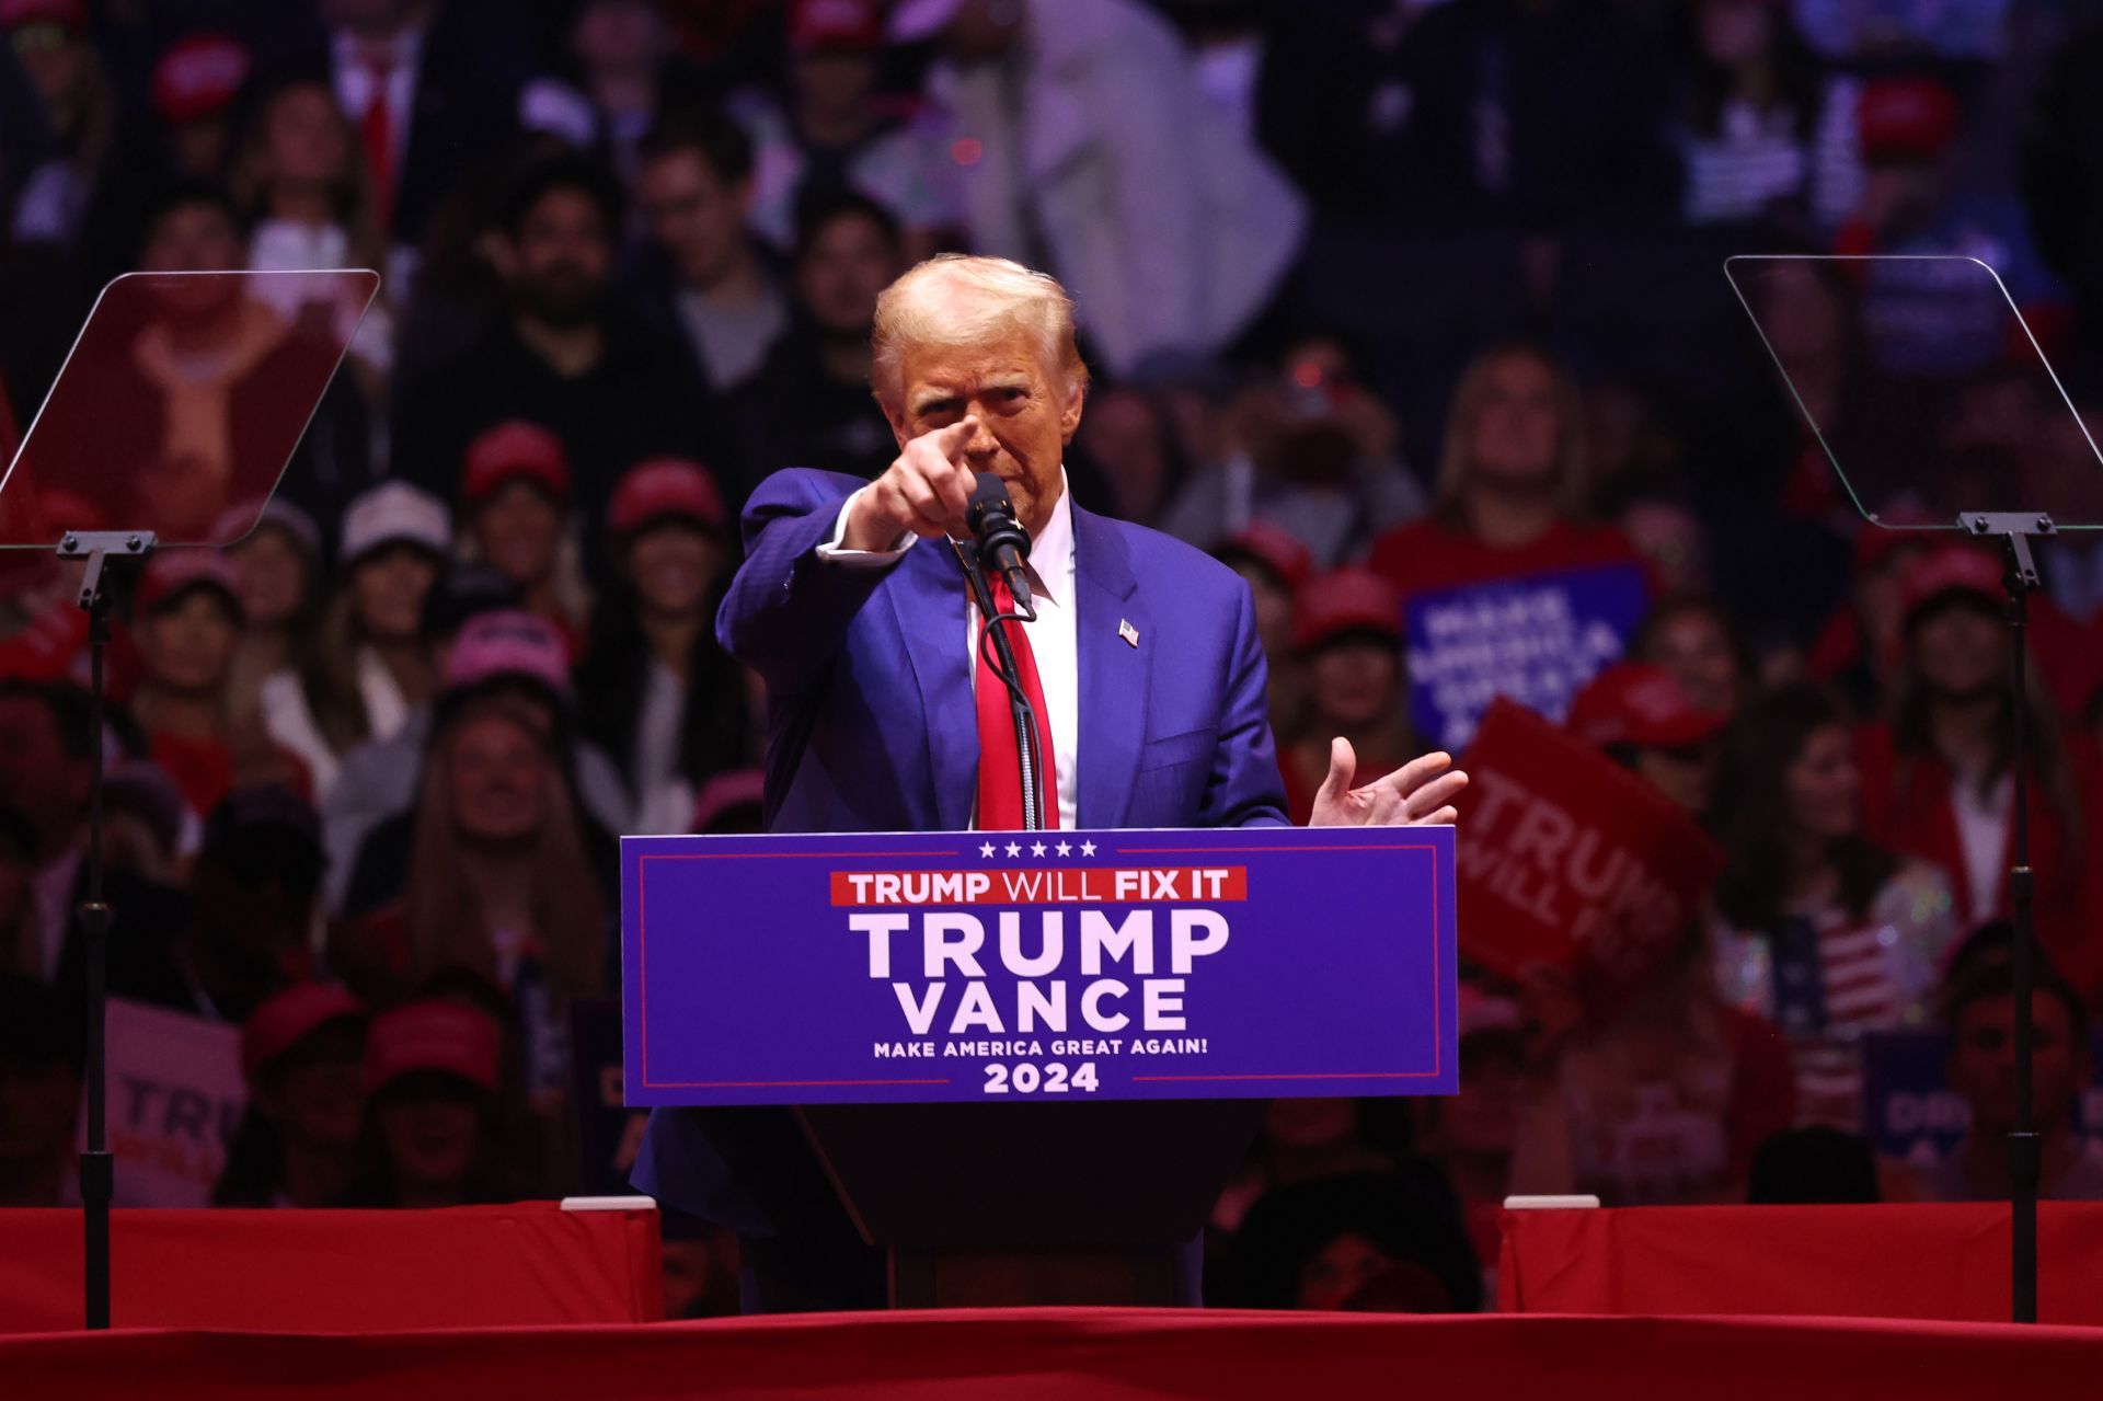
M 1459 953 L 1626 987 L 1687 932 L 1722 848 L 1663 793 L 1499 696 L 1462 764 Z

